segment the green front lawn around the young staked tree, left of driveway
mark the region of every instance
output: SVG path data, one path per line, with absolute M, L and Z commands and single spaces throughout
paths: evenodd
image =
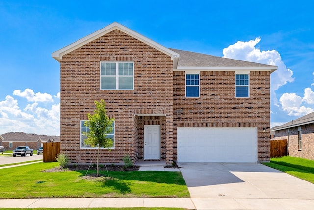
M 43 172 L 58 166 L 34 163 L 0 169 L 0 199 L 81 197 L 189 197 L 180 172 L 109 172 L 110 179 L 83 179 L 86 171 Z M 88 173 L 96 173 L 89 170 Z M 106 174 L 106 171 L 100 171 Z

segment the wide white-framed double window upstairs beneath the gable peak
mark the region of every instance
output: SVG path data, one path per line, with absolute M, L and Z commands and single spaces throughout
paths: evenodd
M 133 62 L 101 62 L 101 90 L 133 90 Z

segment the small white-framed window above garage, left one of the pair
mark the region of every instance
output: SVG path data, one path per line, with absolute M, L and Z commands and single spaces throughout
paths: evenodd
M 200 74 L 185 75 L 185 96 L 200 97 Z

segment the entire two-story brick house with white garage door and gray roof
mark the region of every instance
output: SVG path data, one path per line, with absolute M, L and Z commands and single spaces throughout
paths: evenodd
M 87 113 L 115 118 L 101 162 L 269 161 L 270 74 L 276 66 L 168 49 L 112 23 L 52 53 L 61 68 L 61 153 L 93 159 Z M 264 132 L 265 131 L 265 132 Z

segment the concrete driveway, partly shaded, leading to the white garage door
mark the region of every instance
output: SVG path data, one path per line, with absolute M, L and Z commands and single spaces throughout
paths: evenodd
M 257 163 L 178 163 L 198 210 L 313 210 L 314 184 Z

